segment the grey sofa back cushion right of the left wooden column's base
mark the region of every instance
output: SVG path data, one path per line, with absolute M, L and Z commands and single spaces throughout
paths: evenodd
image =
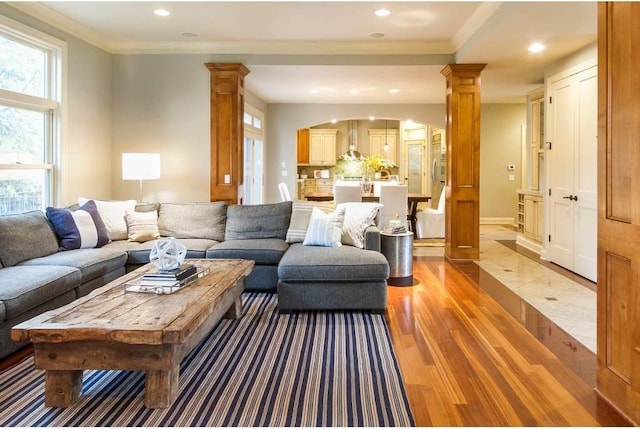
M 291 201 L 233 205 L 227 209 L 225 240 L 279 238 L 284 240 L 291 220 Z

